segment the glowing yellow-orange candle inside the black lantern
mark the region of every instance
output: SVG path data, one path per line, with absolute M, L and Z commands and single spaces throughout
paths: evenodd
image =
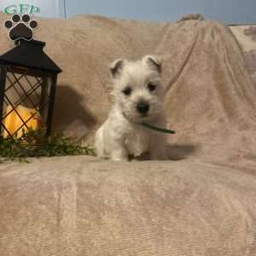
M 23 135 L 23 131 L 27 131 L 26 126 L 32 130 L 37 130 L 40 127 L 41 117 L 35 108 L 26 108 L 19 105 L 15 108 L 15 110 L 13 110 L 12 106 L 7 106 L 6 108 L 6 113 L 11 113 L 9 113 L 8 116 L 5 118 L 4 126 L 9 131 L 10 135 L 13 136 L 14 134 L 16 134 L 16 137 L 19 138 Z M 26 122 L 26 125 L 23 124 L 20 117 L 21 119 L 23 119 L 24 122 Z M 22 126 L 22 128 L 20 128 L 20 126 Z M 16 132 L 19 128 L 20 130 Z M 9 137 L 8 131 L 4 129 L 3 137 Z

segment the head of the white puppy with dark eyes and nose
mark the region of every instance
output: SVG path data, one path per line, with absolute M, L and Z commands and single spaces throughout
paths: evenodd
M 162 113 L 165 91 L 160 83 L 161 63 L 147 55 L 139 61 L 114 61 L 113 97 L 131 122 L 154 120 Z

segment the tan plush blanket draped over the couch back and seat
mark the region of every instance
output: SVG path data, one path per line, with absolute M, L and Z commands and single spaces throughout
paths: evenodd
M 109 62 L 156 54 L 177 134 L 168 161 L 0 164 L 1 256 L 256 255 L 256 87 L 228 27 L 82 15 L 40 20 L 36 38 L 63 70 L 55 129 L 90 142 L 111 104 Z

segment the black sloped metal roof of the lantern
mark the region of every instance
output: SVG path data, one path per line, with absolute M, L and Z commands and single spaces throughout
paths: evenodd
M 61 68 L 44 53 L 44 42 L 20 39 L 15 41 L 15 45 L 15 48 L 0 56 L 0 64 L 34 68 L 49 73 L 61 73 Z

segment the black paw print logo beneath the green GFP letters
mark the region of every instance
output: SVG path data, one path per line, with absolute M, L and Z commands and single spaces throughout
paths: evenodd
M 38 27 L 37 20 L 31 20 L 29 15 L 13 15 L 11 20 L 5 20 L 4 26 L 9 29 L 9 38 L 13 41 L 33 38 L 33 29 Z

